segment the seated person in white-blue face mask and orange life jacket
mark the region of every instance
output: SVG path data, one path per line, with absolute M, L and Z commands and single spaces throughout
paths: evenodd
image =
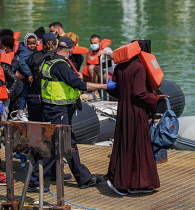
M 103 40 L 104 41 L 104 40 Z M 83 74 L 83 80 L 90 82 L 98 83 L 100 82 L 100 68 L 99 68 L 99 57 L 102 54 L 108 54 L 111 55 L 112 49 L 109 46 L 110 43 L 107 44 L 107 47 L 103 48 L 101 47 L 101 38 L 99 35 L 92 35 L 90 38 L 90 48 L 91 52 L 89 52 L 86 56 L 86 65 L 84 66 L 82 70 Z M 110 59 L 108 61 L 108 71 L 109 73 L 113 73 L 114 69 L 114 62 Z M 105 61 L 103 61 L 105 64 Z M 106 80 L 106 74 L 104 72 L 104 82 Z M 95 98 L 100 98 L 98 90 L 94 91 Z

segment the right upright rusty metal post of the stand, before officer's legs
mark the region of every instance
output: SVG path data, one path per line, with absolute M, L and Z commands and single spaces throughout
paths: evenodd
M 57 205 L 52 209 L 67 209 L 71 207 L 65 205 L 64 202 L 64 141 L 65 141 L 66 127 L 63 125 L 55 126 L 55 158 L 56 158 L 56 187 L 57 187 Z

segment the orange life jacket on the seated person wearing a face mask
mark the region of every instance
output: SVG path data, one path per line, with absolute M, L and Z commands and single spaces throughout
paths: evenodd
M 111 44 L 112 44 L 112 41 L 110 39 L 103 39 L 100 42 L 99 51 L 103 50 L 104 48 L 108 47 Z M 89 77 L 88 67 L 89 67 L 90 64 L 99 66 L 100 61 L 99 61 L 98 53 L 94 54 L 93 51 L 90 51 L 86 55 L 86 62 L 85 62 L 85 65 L 82 69 L 82 73 L 87 77 Z

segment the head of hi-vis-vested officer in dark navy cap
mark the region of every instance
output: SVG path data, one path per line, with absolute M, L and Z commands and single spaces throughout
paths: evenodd
M 74 48 L 74 42 L 70 37 L 62 37 L 59 40 L 57 47 L 57 54 L 69 58 L 72 55 L 72 50 Z

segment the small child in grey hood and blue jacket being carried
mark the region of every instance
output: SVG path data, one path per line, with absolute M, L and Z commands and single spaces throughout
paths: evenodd
M 25 113 L 26 97 L 28 89 L 33 80 L 32 72 L 26 63 L 26 60 L 37 51 L 37 36 L 34 33 L 27 33 L 24 37 L 24 42 L 19 44 L 19 69 L 16 71 L 16 77 L 23 81 L 23 89 L 20 98 L 19 111 L 17 113 L 18 119 L 21 121 L 28 121 Z

